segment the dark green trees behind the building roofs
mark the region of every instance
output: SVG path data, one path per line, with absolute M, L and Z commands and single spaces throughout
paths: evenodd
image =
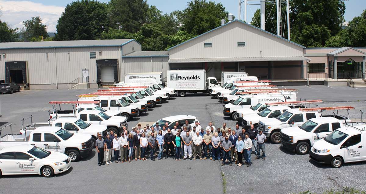
M 306 47 L 366 47 L 366 9 L 344 25 L 344 1 L 290 0 L 291 40 Z M 277 34 L 274 4 L 266 0 L 266 31 Z M 0 42 L 134 38 L 143 51 L 166 50 L 220 26 L 221 19 L 228 22 L 227 16 L 221 3 L 206 0 L 191 0 L 185 9 L 166 14 L 146 0 L 79 0 L 65 7 L 53 38 L 39 16 L 23 21 L 22 29 L 12 29 L 0 15 Z M 260 27 L 259 9 L 252 20 Z

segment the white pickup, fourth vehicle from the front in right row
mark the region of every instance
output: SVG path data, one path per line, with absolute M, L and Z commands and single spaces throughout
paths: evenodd
M 288 106 L 270 106 L 259 113 L 244 115 L 243 117 L 241 117 L 241 122 L 239 122 L 245 129 L 250 129 L 250 125 L 254 125 L 254 128 L 257 128 L 259 120 L 276 118 L 289 109 L 291 108 Z M 240 120 L 240 117 L 238 117 L 238 119 Z

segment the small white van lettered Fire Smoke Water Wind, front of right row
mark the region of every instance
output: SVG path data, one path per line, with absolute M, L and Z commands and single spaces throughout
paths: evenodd
M 310 158 L 321 164 L 339 168 L 343 163 L 366 160 L 366 123 L 346 125 L 314 143 Z

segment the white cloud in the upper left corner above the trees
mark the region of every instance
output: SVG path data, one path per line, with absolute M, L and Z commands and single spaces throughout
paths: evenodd
M 40 16 L 42 23 L 47 25 L 48 32 L 56 32 L 56 24 L 64 7 L 44 5 L 31 1 L 0 0 L 1 21 L 7 22 L 12 28 L 22 28 L 23 21 Z

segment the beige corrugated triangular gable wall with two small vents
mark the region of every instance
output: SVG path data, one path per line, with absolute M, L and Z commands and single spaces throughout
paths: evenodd
M 212 42 L 212 48 L 203 43 Z M 245 47 L 238 47 L 245 42 Z M 262 52 L 259 52 L 262 51 Z M 266 32 L 234 22 L 169 50 L 169 58 L 303 56 L 303 48 Z

